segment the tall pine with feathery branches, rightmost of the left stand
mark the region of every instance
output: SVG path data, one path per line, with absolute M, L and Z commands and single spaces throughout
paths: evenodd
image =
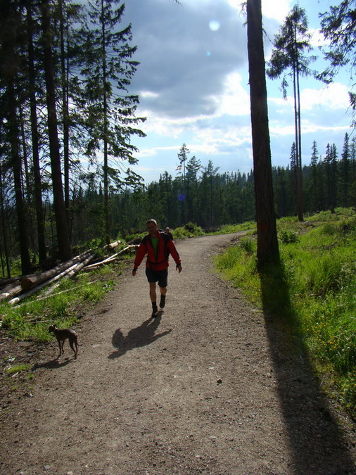
M 141 181 L 129 165 L 136 163 L 132 135 L 144 137 L 136 127 L 144 118 L 136 118 L 138 96 L 130 95 L 129 84 L 139 63 L 132 56 L 132 28 L 119 30 L 125 4 L 120 0 L 89 1 L 90 22 L 83 32 L 87 155 L 93 160 L 102 156 L 105 237 L 110 243 L 110 185 L 120 189 Z

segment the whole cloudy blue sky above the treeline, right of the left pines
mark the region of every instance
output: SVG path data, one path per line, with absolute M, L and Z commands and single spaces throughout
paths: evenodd
M 313 33 L 314 67 L 324 67 L 318 12 L 338 0 L 300 0 Z M 165 170 L 176 176 L 182 144 L 203 167 L 212 160 L 219 172 L 253 168 L 246 35 L 240 0 L 127 0 L 123 23 L 132 23 L 134 59 L 139 61 L 130 92 L 139 94 L 136 115 L 145 139 L 134 138 L 139 159 L 134 171 L 146 184 Z M 295 1 L 262 0 L 265 58 L 274 34 Z M 301 82 L 303 163 L 310 163 L 312 142 L 320 155 L 335 143 L 341 154 L 345 132 L 351 133 L 347 76 L 326 87 Z M 288 165 L 294 141 L 293 91 L 284 100 L 280 80 L 267 80 L 272 165 Z

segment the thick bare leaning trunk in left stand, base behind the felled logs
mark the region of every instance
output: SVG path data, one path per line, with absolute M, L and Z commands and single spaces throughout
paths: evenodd
M 53 58 L 51 51 L 51 25 L 49 18 L 49 0 L 42 0 L 42 30 L 44 34 L 44 72 L 46 77 L 46 101 L 48 109 L 49 153 L 51 156 L 51 173 L 53 184 L 53 205 L 56 215 L 56 230 L 58 251 L 61 260 L 68 260 L 72 250 L 68 234 L 65 205 L 63 199 L 63 184 L 61 171 L 61 156 L 56 113 L 56 89 L 53 75 Z

